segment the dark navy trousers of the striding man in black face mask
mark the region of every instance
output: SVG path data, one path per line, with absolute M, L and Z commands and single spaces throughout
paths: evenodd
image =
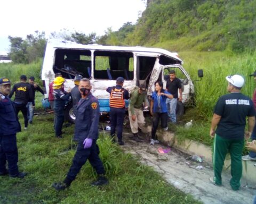
M 97 174 L 105 174 L 105 169 L 99 157 L 99 147 L 95 140 L 92 142 L 90 148 L 84 149 L 83 142 L 78 142 L 76 154 L 73 158 L 73 163 L 67 174 L 67 179 L 69 181 L 74 181 L 76 175 L 79 173 L 82 166 L 86 163 L 88 159 L 92 167 L 96 170 Z

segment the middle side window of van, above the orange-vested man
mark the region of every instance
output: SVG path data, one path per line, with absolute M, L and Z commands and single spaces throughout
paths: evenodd
M 115 51 L 94 52 L 94 79 L 133 80 L 133 53 Z

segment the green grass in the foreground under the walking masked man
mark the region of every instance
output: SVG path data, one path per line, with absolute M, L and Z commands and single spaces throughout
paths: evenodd
M 51 184 L 65 178 L 75 154 L 74 126 L 64 131 L 63 139 L 54 138 L 53 115 L 41 114 L 27 131 L 17 134 L 19 168 L 29 174 L 22 180 L 0 177 L 0 203 L 201 203 L 124 154 L 103 133 L 98 145 L 109 185 L 90 186 L 97 175 L 87 163 L 69 189 L 55 191 Z

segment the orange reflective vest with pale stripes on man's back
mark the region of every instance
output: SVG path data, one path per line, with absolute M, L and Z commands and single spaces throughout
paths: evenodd
M 110 93 L 109 106 L 111 108 L 124 108 L 125 102 L 123 95 L 124 88 L 116 89 L 116 87 L 113 87 Z

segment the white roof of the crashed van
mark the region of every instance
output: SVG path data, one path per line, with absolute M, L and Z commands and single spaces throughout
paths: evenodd
M 141 47 L 141 46 L 105 46 L 99 44 L 89 44 L 83 45 L 78 44 L 69 40 L 61 40 L 61 39 L 49 39 L 47 41 L 47 46 L 51 45 L 53 48 L 76 48 L 76 49 L 93 49 L 93 50 L 120 50 L 120 51 L 131 51 L 131 52 L 144 52 L 144 53 L 159 53 L 166 56 L 170 56 L 175 60 L 180 61 L 183 64 L 183 61 L 178 57 L 178 53 L 172 53 L 165 49 L 161 48 L 148 48 L 148 47 Z

